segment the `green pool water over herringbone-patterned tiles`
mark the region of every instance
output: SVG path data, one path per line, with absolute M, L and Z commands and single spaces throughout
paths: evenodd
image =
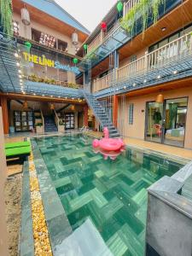
M 81 136 L 36 142 L 73 230 L 90 218 L 113 255 L 143 255 L 146 189 L 182 165 L 131 148 L 103 160 Z

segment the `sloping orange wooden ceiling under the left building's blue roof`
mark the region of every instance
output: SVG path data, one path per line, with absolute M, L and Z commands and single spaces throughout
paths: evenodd
M 34 0 L 38 1 L 38 0 Z M 69 26 L 66 23 L 63 23 L 61 20 L 57 20 L 55 17 L 50 16 L 44 12 L 42 12 L 39 9 L 36 9 L 32 7 L 31 5 L 25 3 L 26 8 L 28 9 L 31 19 L 44 25 L 48 26 L 49 28 L 52 28 L 53 30 L 56 30 L 57 32 L 61 32 L 68 37 L 71 37 L 74 32 L 74 27 Z M 14 12 L 20 15 L 20 9 L 22 9 L 24 6 L 24 3 L 22 3 L 21 0 L 13 0 L 13 8 Z M 84 40 L 88 37 L 87 34 L 84 32 L 81 32 L 76 29 L 76 31 L 79 34 L 79 41 L 84 42 Z

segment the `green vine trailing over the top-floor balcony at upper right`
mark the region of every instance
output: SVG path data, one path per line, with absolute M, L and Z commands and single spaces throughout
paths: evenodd
M 131 32 L 133 36 L 133 30 L 137 23 L 138 17 L 142 17 L 142 30 L 143 35 L 148 26 L 148 14 L 151 12 L 153 23 L 156 23 L 159 17 L 159 8 L 161 4 L 165 5 L 166 0 L 140 0 L 126 15 L 120 20 L 120 26 L 125 31 Z

